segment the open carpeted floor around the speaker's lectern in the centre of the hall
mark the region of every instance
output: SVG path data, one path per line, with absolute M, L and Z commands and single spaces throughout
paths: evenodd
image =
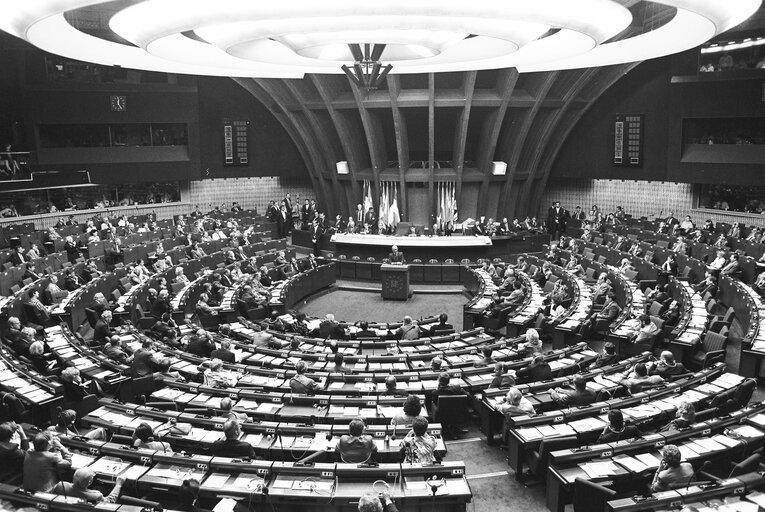
M 452 287 L 454 288 L 454 287 Z M 295 309 L 309 316 L 323 317 L 334 313 L 340 321 L 400 322 L 405 315 L 414 319 L 445 312 L 449 323 L 462 330 L 462 306 L 467 298 L 461 293 L 416 293 L 407 301 L 383 300 L 379 291 L 351 291 L 334 289 Z

